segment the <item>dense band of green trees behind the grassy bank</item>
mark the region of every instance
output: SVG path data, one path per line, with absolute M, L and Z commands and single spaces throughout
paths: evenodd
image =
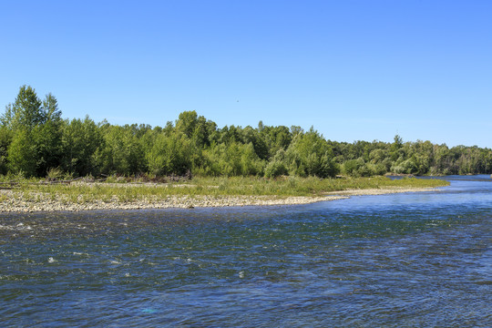
M 337 142 L 314 128 L 225 126 L 184 111 L 164 127 L 62 118 L 56 97 L 22 86 L 0 118 L 0 174 L 46 177 L 490 174 L 492 150 L 430 141 Z

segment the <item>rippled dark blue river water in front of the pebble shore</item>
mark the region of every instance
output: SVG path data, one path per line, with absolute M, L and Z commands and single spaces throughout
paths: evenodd
M 0 215 L 0 326 L 489 327 L 492 183 Z

